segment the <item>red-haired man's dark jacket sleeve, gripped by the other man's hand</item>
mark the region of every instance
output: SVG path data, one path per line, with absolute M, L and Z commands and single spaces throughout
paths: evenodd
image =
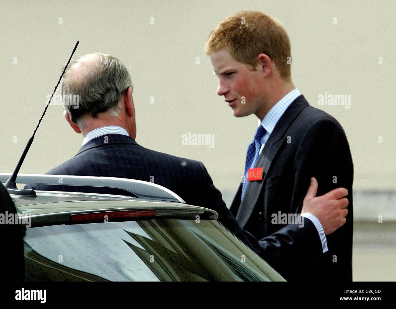
M 353 165 L 349 144 L 341 125 L 335 119 L 318 119 L 307 129 L 294 160 L 295 182 L 292 205 L 299 205 L 301 211 L 303 199 L 310 184 L 310 177 L 318 180 L 317 196 L 344 187 L 348 190 L 348 215 L 346 223 L 330 235 L 327 235 L 329 251 L 326 265 L 339 280 L 352 280 L 352 181 Z M 336 263 L 335 263 L 336 261 Z

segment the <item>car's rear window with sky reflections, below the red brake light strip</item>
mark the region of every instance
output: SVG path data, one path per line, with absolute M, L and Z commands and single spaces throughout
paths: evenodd
M 28 228 L 27 281 L 283 280 L 217 221 L 152 219 Z

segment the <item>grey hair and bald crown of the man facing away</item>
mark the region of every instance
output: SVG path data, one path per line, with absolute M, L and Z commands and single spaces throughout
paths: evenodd
M 74 70 L 85 57 L 92 61 Z M 77 70 L 79 72 L 74 74 Z M 133 87 L 131 75 L 120 60 L 101 53 L 83 55 L 70 63 L 61 87 L 62 97 L 78 95 L 78 104 L 65 104 L 63 100 L 63 108 L 79 127 L 84 126 L 88 115 L 96 118 L 99 113 L 108 111 L 117 116 L 121 111 L 121 95 L 129 87 Z

